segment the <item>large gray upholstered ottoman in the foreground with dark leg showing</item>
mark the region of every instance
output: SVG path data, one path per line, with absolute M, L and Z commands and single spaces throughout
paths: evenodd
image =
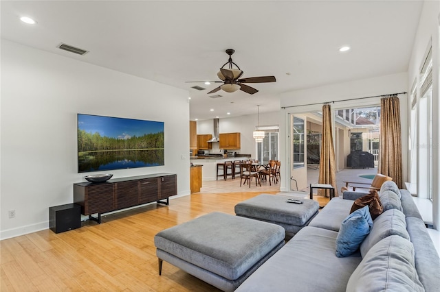
M 223 291 L 234 291 L 284 245 L 280 226 L 212 212 L 162 230 L 154 237 L 159 258 Z

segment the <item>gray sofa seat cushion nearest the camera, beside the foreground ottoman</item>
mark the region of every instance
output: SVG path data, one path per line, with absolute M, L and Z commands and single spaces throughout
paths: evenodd
M 344 291 L 362 258 L 358 252 L 338 258 L 337 236 L 335 231 L 306 226 L 254 271 L 236 292 Z

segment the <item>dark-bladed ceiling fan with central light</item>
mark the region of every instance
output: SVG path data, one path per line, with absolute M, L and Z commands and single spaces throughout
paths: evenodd
M 250 95 L 253 95 L 254 93 L 258 93 L 259 90 L 256 90 L 255 88 L 243 83 L 276 82 L 275 76 L 260 76 L 260 77 L 248 77 L 248 78 L 239 79 L 241 75 L 243 75 L 243 71 L 241 71 L 240 67 L 237 64 L 232 62 L 231 56 L 234 52 L 235 52 L 234 49 L 226 50 L 226 53 L 229 55 L 229 60 L 228 62 L 225 62 L 223 66 L 221 66 L 220 71 L 217 73 L 217 76 L 222 81 L 210 81 L 212 83 L 223 83 L 223 84 L 217 88 L 214 88 L 208 94 L 216 93 L 221 89 L 227 93 L 234 93 L 236 90 L 241 90 L 244 91 L 245 93 L 249 93 Z M 228 65 L 228 68 L 223 68 L 226 65 Z M 235 65 L 236 68 L 233 68 L 232 65 Z M 203 81 L 192 81 L 192 82 L 203 82 Z

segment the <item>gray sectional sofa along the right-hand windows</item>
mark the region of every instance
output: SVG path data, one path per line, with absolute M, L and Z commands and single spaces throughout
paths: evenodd
M 360 250 L 338 258 L 336 239 L 359 193 L 329 204 L 236 289 L 243 291 L 439 291 L 440 258 L 410 193 L 386 182 L 384 212 Z

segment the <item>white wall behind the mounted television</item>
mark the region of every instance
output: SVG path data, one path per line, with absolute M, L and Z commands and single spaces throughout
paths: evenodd
M 1 239 L 48 228 L 49 207 L 73 202 L 87 174 L 77 172 L 78 112 L 164 121 L 164 166 L 111 173 L 177 173 L 179 195 L 190 193 L 186 90 L 1 40 Z

